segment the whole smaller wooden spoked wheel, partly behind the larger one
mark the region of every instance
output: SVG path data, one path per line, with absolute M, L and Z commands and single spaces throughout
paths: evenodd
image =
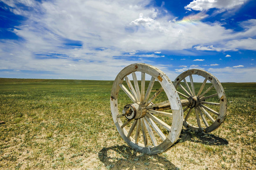
M 201 79 L 203 83 L 195 83 L 193 79 Z M 215 76 L 191 69 L 177 76 L 173 84 L 181 98 L 186 128 L 207 133 L 221 125 L 227 112 L 227 99 Z

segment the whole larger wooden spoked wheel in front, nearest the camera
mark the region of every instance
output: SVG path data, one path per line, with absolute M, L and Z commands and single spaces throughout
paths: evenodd
M 137 75 L 141 75 L 141 82 Z M 150 82 L 145 81 L 145 77 L 151 77 Z M 167 112 L 156 109 L 169 101 Z M 137 151 L 161 153 L 180 135 L 183 122 L 181 102 L 168 76 L 158 68 L 142 63 L 125 67 L 115 78 L 110 104 L 118 132 Z

